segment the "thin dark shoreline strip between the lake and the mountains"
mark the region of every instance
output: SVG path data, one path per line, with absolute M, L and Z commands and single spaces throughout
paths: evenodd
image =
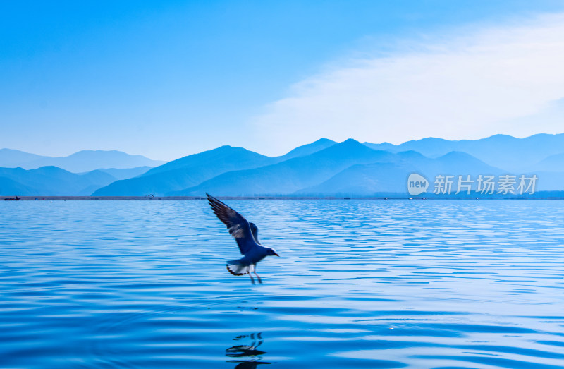
M 314 196 L 217 196 L 222 200 L 564 200 L 564 196 L 531 196 L 531 197 L 409 197 L 409 196 L 376 196 L 376 197 L 314 197 Z M 10 200 L 13 196 L 0 196 L 0 200 Z M 206 200 L 201 196 L 18 196 L 22 201 L 164 201 L 164 200 Z

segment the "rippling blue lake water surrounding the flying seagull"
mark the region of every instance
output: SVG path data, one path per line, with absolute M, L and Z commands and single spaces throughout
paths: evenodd
M 226 202 L 264 284 L 204 201 L 1 202 L 0 368 L 564 368 L 564 202 Z

